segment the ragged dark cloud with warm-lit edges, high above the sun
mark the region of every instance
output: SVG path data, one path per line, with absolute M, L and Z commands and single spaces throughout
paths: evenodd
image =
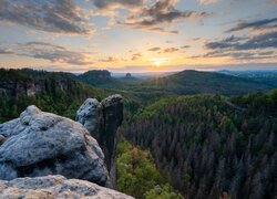
M 161 25 L 208 15 L 206 12 L 179 11 L 175 4 L 176 0 L 157 0 L 153 6 L 143 7 L 138 13 L 132 13 L 125 18 L 124 22 L 119 23 L 136 29 L 177 33 L 177 31 L 168 31 L 167 28 Z

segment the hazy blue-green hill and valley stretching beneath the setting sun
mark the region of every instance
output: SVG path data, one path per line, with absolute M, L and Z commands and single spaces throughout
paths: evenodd
M 98 73 L 98 71 L 95 71 Z M 85 78 L 83 76 L 86 76 Z M 179 73 L 147 78 L 136 77 L 98 77 L 93 72 L 84 73 L 79 77 L 88 84 L 107 88 L 135 100 L 141 105 L 155 102 L 162 97 L 192 95 L 192 94 L 220 94 L 242 95 L 255 92 L 267 92 L 274 85 L 257 82 L 234 75 L 216 72 L 183 71 Z

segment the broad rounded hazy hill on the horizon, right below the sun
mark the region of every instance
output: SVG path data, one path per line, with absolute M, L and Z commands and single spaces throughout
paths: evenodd
M 163 90 L 178 95 L 196 93 L 240 95 L 268 91 L 274 86 L 215 72 L 183 71 L 146 82 L 144 83 L 144 87 Z

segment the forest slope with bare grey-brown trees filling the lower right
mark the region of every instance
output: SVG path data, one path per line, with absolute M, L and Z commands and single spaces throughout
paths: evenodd
M 161 100 L 120 134 L 150 149 L 186 198 L 277 196 L 277 91 Z

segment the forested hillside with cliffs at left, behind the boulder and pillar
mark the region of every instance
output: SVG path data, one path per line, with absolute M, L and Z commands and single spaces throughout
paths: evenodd
M 75 81 L 70 73 L 0 70 L 0 123 L 18 117 L 30 104 L 70 118 L 88 97 L 103 98 L 109 92 Z

